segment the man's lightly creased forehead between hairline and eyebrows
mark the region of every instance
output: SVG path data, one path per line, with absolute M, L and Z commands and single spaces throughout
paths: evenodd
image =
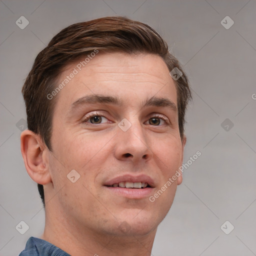
M 139 100 L 157 94 L 176 103 L 174 81 L 160 56 L 98 53 L 89 61 L 87 58 L 87 62 L 85 57 L 67 65 L 60 74 L 57 84 L 66 79 L 68 82 L 58 93 L 57 105 L 70 106 L 78 98 L 89 94 L 115 95 L 126 98 L 126 102 L 130 102 L 131 98 Z M 71 73 L 75 73 L 72 78 Z

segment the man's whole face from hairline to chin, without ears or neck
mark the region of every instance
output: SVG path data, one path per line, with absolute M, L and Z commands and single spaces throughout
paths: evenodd
M 45 196 L 54 195 L 75 228 L 147 234 L 181 182 L 179 176 L 166 185 L 182 164 L 184 145 L 174 81 L 152 54 L 98 53 L 81 70 L 77 63 L 58 80 L 78 71 L 56 96 Z

